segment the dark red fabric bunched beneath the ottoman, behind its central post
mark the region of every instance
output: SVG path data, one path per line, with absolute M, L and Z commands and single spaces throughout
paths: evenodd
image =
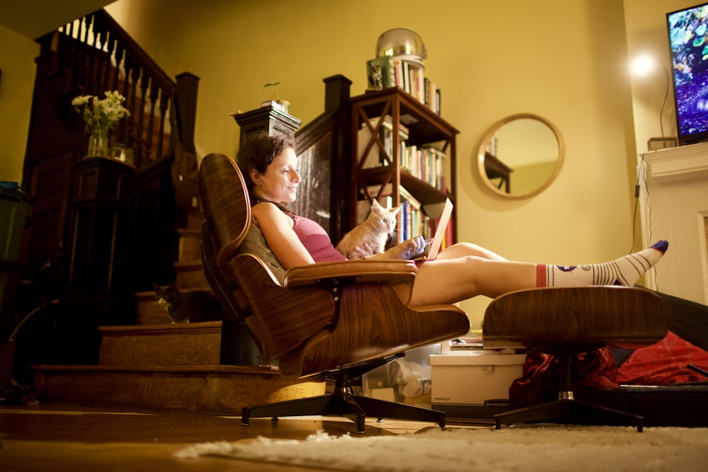
M 556 356 L 530 351 L 522 369 L 522 377 L 509 388 L 512 409 L 544 403 L 547 393 L 560 391 L 560 369 Z M 617 387 L 617 362 L 607 347 L 583 352 L 571 359 L 571 390 Z

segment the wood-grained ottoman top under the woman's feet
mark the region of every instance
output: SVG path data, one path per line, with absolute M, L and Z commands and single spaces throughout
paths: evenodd
M 509 292 L 484 313 L 485 347 L 649 345 L 668 331 L 670 310 L 638 287 L 546 287 Z

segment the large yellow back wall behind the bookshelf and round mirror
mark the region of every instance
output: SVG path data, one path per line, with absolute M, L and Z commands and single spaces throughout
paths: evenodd
M 323 110 L 322 79 L 343 74 L 353 94 L 362 93 L 379 35 L 415 30 L 428 50 L 426 75 L 442 89 L 442 117 L 460 130 L 459 237 L 508 258 L 573 264 L 616 258 L 635 239 L 641 139 L 634 134 L 627 38 L 665 38 L 656 25 L 641 30 L 657 13 L 640 5 L 663 16 L 673 6 L 661 5 L 675 3 L 685 2 L 118 0 L 107 10 L 168 74 L 200 76 L 201 154 L 235 153 L 239 129 L 229 113 L 270 98 L 263 84 L 281 81 L 280 96 L 307 123 Z M 630 18 L 627 32 L 625 8 L 641 20 Z M 501 200 L 476 175 L 485 130 L 514 113 L 547 118 L 566 145 L 556 183 L 530 200 Z M 488 301 L 478 297 L 462 308 L 476 323 Z

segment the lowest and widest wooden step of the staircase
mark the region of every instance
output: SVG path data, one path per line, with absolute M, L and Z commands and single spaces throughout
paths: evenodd
M 274 367 L 38 365 L 40 402 L 241 414 L 241 408 L 324 394 L 322 379 L 283 379 Z

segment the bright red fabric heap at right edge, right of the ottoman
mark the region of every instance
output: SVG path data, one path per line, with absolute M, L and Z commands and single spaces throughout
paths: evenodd
M 669 331 L 658 343 L 632 352 L 619 369 L 617 381 L 624 385 L 668 385 L 708 380 L 688 369 L 687 364 L 708 370 L 708 352 Z

